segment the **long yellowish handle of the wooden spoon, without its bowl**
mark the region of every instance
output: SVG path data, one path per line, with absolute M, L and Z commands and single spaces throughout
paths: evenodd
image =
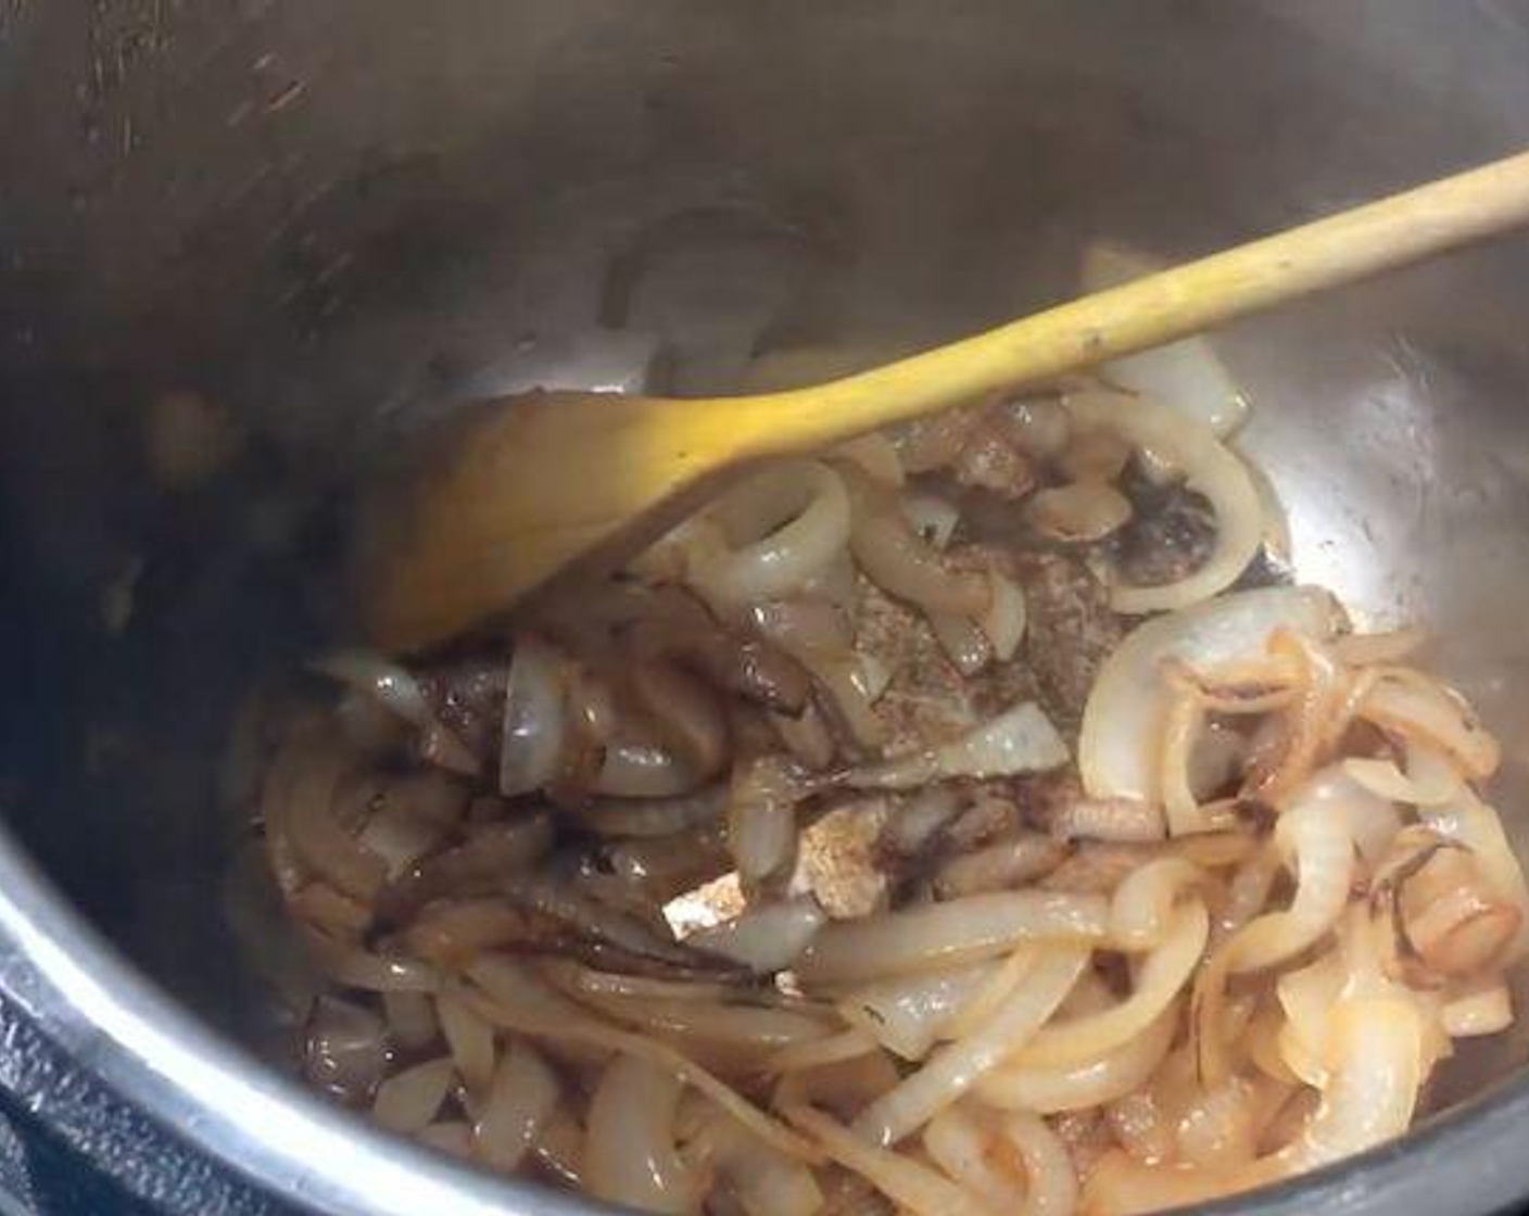
M 732 399 L 746 454 L 810 451 L 1052 379 L 1529 222 L 1529 153 L 1084 297 L 830 384 Z

